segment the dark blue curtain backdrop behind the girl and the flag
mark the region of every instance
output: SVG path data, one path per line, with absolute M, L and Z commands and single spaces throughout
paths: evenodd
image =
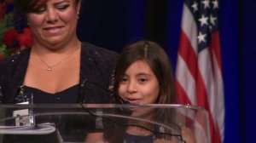
M 253 89 L 256 67 L 256 2 L 220 1 L 219 26 L 223 58 L 225 143 L 255 142 Z M 166 48 L 175 67 L 179 41 L 181 0 L 84 0 L 78 34 L 82 41 L 120 51 L 141 38 Z M 254 32 L 253 32 L 254 31 Z M 174 70 L 175 71 L 175 70 Z

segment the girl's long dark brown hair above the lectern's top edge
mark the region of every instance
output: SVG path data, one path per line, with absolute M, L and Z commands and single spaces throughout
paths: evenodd
M 125 70 L 137 60 L 146 61 L 160 83 L 160 94 L 156 103 L 175 103 L 176 98 L 170 60 L 160 45 L 144 40 L 132 43 L 122 50 L 114 70 L 113 91 L 115 93 L 118 92 L 119 83 L 125 75 Z

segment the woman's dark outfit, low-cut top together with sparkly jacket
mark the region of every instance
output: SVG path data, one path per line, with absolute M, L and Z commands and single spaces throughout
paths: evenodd
M 83 103 L 109 103 L 110 93 L 108 86 L 111 81 L 113 66 L 118 54 L 91 45 L 81 44 L 80 77 L 79 84 L 73 85 L 56 94 L 49 94 L 32 87 L 22 87 L 28 97 L 33 94 L 34 104 L 44 103 L 77 103 L 81 89 L 81 83 L 86 80 Z M 20 86 L 24 83 L 26 68 L 31 49 L 24 49 L 13 56 L 0 61 L 0 103 L 19 103 L 23 96 L 20 94 Z M 96 84 L 100 85 L 96 85 Z M 100 88 L 101 87 L 101 88 Z

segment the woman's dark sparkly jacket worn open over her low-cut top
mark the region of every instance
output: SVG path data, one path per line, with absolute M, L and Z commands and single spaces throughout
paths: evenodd
M 81 47 L 79 83 L 83 83 L 84 80 L 92 81 L 84 86 L 85 92 L 82 101 L 84 103 L 109 103 L 110 93 L 92 83 L 97 83 L 108 89 L 118 54 L 90 43 L 82 43 Z M 30 52 L 31 49 L 24 49 L 0 61 L 0 103 L 14 104 L 20 100 L 29 100 L 24 99 L 22 94 L 20 95 L 20 86 L 24 82 Z M 24 92 L 26 94 L 26 91 Z M 28 97 L 26 96 L 26 98 Z M 78 96 L 73 97 L 77 98 Z M 41 103 L 44 102 L 42 100 Z

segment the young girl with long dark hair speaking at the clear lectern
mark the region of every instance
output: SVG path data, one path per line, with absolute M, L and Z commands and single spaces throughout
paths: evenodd
M 131 104 L 173 104 L 175 92 L 172 80 L 171 63 L 165 51 L 157 43 L 139 41 L 120 54 L 114 70 L 113 92 Z M 118 95 L 113 95 L 113 103 L 119 103 Z M 175 132 L 162 126 L 128 120 L 123 123 L 127 126 L 115 125 L 114 134 L 106 134 L 109 142 L 164 143 L 183 140 L 181 135 L 177 138 L 172 135 L 182 132 L 176 112 L 172 109 L 131 108 L 131 117 L 166 124 Z

